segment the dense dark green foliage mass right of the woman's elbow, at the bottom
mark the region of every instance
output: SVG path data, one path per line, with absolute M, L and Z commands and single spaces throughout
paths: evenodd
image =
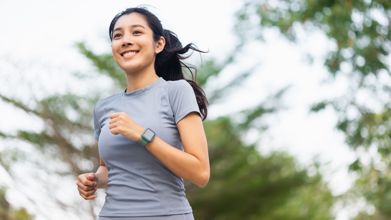
M 258 117 L 263 114 L 259 114 Z M 197 219 L 332 219 L 333 196 L 319 173 L 308 176 L 283 152 L 261 156 L 228 117 L 205 123 L 211 179 L 187 185 Z

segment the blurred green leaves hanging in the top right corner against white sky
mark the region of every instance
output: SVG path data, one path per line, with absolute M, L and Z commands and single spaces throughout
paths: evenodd
M 318 28 L 337 42 L 337 50 L 330 51 L 326 60 L 330 72 L 337 73 L 341 70 L 340 64 L 346 62 L 352 65 L 355 74 L 364 77 L 380 70 L 389 72 L 383 59 L 391 50 L 389 5 L 388 1 L 363 0 L 248 1 L 238 12 L 238 27 L 249 27 L 250 18 L 257 16 L 259 23 L 254 24 L 258 25 L 255 28 L 275 27 L 291 40 L 297 39 L 295 23 L 302 23 L 310 31 Z M 262 32 L 255 37 L 262 38 L 261 35 Z M 363 64 L 358 61 L 361 58 Z

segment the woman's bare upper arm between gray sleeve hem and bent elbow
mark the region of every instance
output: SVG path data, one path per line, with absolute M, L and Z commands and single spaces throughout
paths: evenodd
M 202 162 L 208 162 L 208 143 L 205 136 L 203 121 L 200 114 L 191 112 L 177 123 L 184 152 L 197 157 Z

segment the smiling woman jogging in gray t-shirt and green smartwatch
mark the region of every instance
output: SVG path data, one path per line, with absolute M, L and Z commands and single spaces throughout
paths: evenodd
M 144 8 L 114 17 L 109 34 L 113 58 L 126 73 L 127 89 L 94 107 L 100 167 L 78 177 L 79 194 L 96 198 L 107 188 L 99 214 L 105 219 L 194 219 L 184 193 L 186 179 L 204 187 L 210 176 L 202 121 L 208 101 L 185 80 L 182 47 Z

